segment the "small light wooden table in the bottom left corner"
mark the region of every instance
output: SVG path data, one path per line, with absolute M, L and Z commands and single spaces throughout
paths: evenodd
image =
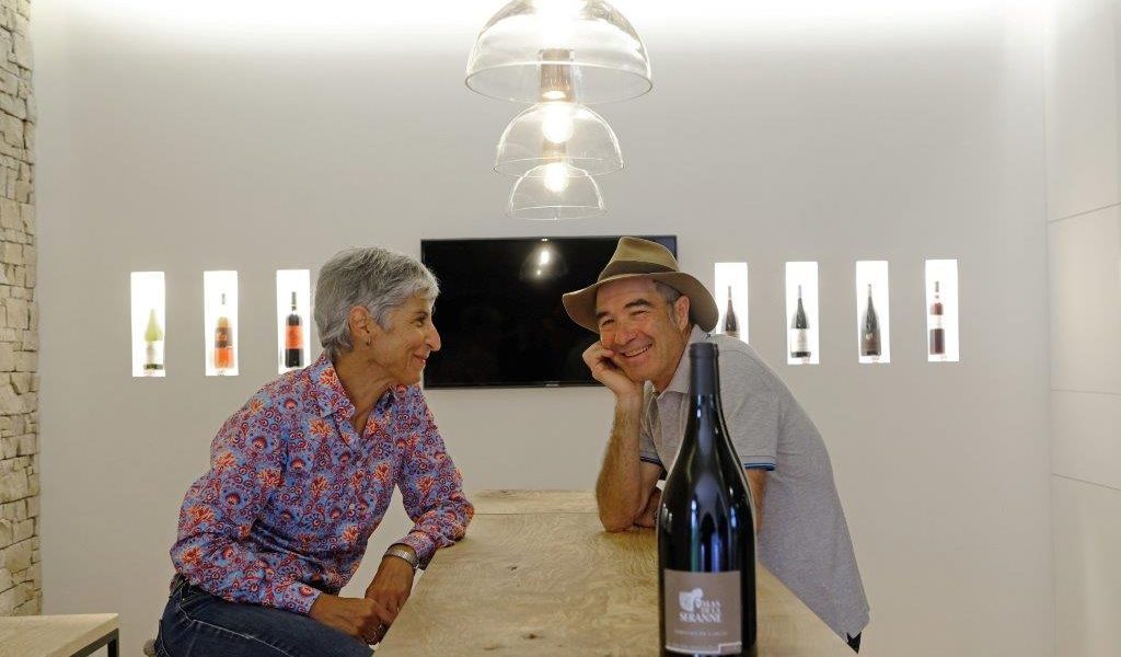
M 115 613 L 0 618 L 0 657 L 117 657 L 117 641 Z

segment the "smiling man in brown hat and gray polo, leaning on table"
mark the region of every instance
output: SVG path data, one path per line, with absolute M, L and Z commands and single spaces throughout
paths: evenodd
M 564 306 L 600 334 L 584 362 L 615 396 L 595 487 L 603 527 L 655 526 L 656 483 L 685 433 L 685 353 L 714 342 L 724 419 L 754 500 L 759 561 L 859 651 L 869 608 L 825 443 L 750 346 L 707 334 L 719 316 L 708 290 L 660 244 L 622 238 L 596 283 L 564 295 Z

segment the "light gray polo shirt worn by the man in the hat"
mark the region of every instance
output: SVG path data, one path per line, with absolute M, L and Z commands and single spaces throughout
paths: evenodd
M 868 600 L 856 568 L 825 443 L 786 385 L 747 343 L 707 335 L 696 326 L 689 343 L 720 350 L 724 420 L 744 468 L 767 473 L 759 562 L 841 636 L 868 624 Z M 688 348 L 661 394 L 647 382 L 640 456 L 669 470 L 689 409 Z

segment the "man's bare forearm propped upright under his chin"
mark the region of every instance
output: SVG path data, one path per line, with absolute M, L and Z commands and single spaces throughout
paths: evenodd
M 611 438 L 608 441 L 600 478 L 595 482 L 600 521 L 609 531 L 628 529 L 641 511 L 638 444 L 641 409 L 641 397 L 615 402 L 615 420 L 611 428 Z

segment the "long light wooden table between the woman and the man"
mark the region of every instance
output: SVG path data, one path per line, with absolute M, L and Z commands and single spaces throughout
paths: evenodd
M 469 493 L 467 537 L 439 550 L 378 657 L 658 655 L 652 530 L 609 534 L 585 491 Z M 760 657 L 852 657 L 758 566 Z

